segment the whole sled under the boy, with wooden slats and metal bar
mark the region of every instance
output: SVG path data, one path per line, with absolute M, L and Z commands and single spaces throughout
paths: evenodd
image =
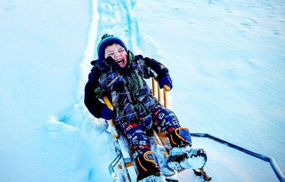
M 157 94 L 155 90 L 155 82 L 157 83 Z M 163 105 L 164 107 L 167 107 L 167 94 L 166 92 L 169 91 L 170 88 L 164 87 L 163 89 L 163 103 L 162 103 L 162 97 L 161 97 L 161 91 L 159 84 L 157 80 L 152 78 L 152 94 L 157 97 L 157 100 L 160 102 L 160 105 Z M 156 96 L 157 95 L 157 96 Z M 113 109 L 113 106 L 109 102 L 107 97 L 104 97 L 103 99 L 105 101 L 105 104 L 110 108 Z M 108 132 L 110 132 L 113 135 L 113 142 L 115 146 L 115 152 L 117 156 L 113 160 L 113 162 L 109 165 L 109 172 L 110 176 L 112 178 L 113 182 L 134 182 L 137 181 L 138 176 L 138 170 L 135 166 L 135 159 L 133 159 L 132 152 L 130 151 L 130 147 L 128 146 L 128 139 L 124 137 L 123 134 L 120 134 L 120 131 L 115 128 L 113 124 L 113 120 L 108 120 Z M 163 158 L 167 157 L 168 151 L 171 149 L 170 147 L 170 141 L 166 137 L 166 134 L 164 132 L 155 132 L 154 129 L 150 129 L 148 132 L 148 139 L 150 140 L 151 149 L 152 151 L 155 151 L 155 154 L 158 158 L 158 163 L 161 168 L 164 164 L 162 163 Z M 285 176 L 283 171 L 281 171 L 281 168 L 279 164 L 274 160 L 271 156 L 265 156 L 262 154 L 257 154 L 253 151 L 250 151 L 248 149 L 244 149 L 241 146 L 237 146 L 235 144 L 230 143 L 229 141 L 225 141 L 223 139 L 219 139 L 218 137 L 214 137 L 210 134 L 205 133 L 191 133 L 191 137 L 202 137 L 211 139 L 212 141 L 218 142 L 220 144 L 224 144 L 225 146 L 228 146 L 232 149 L 236 149 L 238 151 L 243 152 L 244 154 L 248 154 L 249 156 L 253 156 L 257 159 L 261 159 L 262 161 L 266 161 L 270 164 L 271 169 L 274 171 L 274 174 L 281 182 L 285 182 Z M 162 168 L 163 170 L 163 168 Z M 212 177 L 209 176 L 209 173 L 207 173 L 204 168 L 199 168 L 199 170 L 193 170 L 196 176 L 203 176 L 204 181 L 211 181 Z M 175 171 L 176 173 L 180 173 L 182 171 Z M 176 182 L 175 178 L 171 178 L 171 176 L 174 175 L 173 173 L 170 174 L 168 177 L 166 175 L 166 181 L 173 181 Z

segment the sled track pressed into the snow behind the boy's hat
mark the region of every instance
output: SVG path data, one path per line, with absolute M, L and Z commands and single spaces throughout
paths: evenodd
M 128 49 L 135 54 L 147 53 L 148 56 L 160 58 L 157 46 L 147 35 L 139 31 L 138 20 L 133 15 L 135 0 L 101 0 L 98 2 L 98 29 L 95 43 L 101 36 L 109 33 L 125 41 Z

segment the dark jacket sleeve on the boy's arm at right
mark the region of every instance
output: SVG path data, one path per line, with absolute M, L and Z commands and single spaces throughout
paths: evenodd
M 157 78 L 157 80 L 159 80 L 160 77 L 169 75 L 168 69 L 165 67 L 165 65 L 162 65 L 162 63 L 152 58 L 143 58 L 143 59 L 145 60 L 145 65 L 147 67 L 150 67 L 151 70 L 153 70 L 156 73 L 156 75 L 154 74 L 154 76 Z

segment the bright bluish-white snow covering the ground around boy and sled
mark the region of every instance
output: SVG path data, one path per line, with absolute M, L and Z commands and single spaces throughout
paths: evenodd
M 278 0 L 0 1 L 0 181 L 110 181 L 110 134 L 83 105 L 104 33 L 170 68 L 168 105 L 183 127 L 284 170 L 284 10 Z M 212 181 L 278 181 L 264 161 L 192 141 Z

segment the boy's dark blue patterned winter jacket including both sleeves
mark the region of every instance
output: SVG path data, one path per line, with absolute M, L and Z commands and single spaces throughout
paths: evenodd
M 128 51 L 125 68 L 108 57 L 94 60 L 85 87 L 85 104 L 91 114 L 100 118 L 105 106 L 103 96 L 107 95 L 115 109 L 114 122 L 131 121 L 146 117 L 158 104 L 152 97 L 150 87 L 144 79 L 168 75 L 167 68 L 154 59 L 133 55 Z

